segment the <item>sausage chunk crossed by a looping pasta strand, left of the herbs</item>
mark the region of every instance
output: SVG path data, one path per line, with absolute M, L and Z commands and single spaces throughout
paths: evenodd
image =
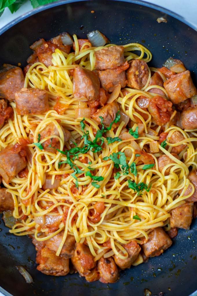
M 71 136 L 71 133 L 64 129 L 63 127 L 61 127 L 63 133 L 64 133 L 64 143 L 66 143 L 68 141 L 68 139 Z M 50 139 L 44 141 L 42 143 L 43 148 L 48 151 L 48 152 L 52 152 L 54 153 L 54 151 L 56 152 L 55 149 L 59 149 L 60 148 L 60 142 L 59 139 L 55 138 L 54 136 L 60 136 L 58 128 L 55 126 L 54 123 L 49 123 L 44 129 L 43 131 L 40 132 L 40 140 L 49 137 Z M 50 146 L 49 146 L 50 145 Z M 53 148 L 52 148 L 53 147 Z

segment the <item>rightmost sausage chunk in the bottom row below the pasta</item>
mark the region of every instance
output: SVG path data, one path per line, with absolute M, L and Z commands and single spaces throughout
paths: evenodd
M 154 257 L 161 255 L 171 244 L 167 233 L 161 227 L 157 227 L 148 234 L 148 241 L 142 244 L 142 249 L 147 257 Z

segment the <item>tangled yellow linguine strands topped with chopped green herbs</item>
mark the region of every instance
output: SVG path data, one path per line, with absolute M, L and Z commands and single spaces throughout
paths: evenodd
M 107 103 L 116 102 L 121 111 L 108 128 L 102 118 L 98 123 L 93 117 L 77 116 L 89 107 L 87 98 L 73 94 L 74 69 L 95 70 L 95 52 L 116 45 L 89 47 L 86 41 L 80 48 L 76 35 L 73 39 L 74 52 L 67 54 L 57 48 L 52 65 L 36 61 L 25 75 L 24 88 L 47 91 L 48 111 L 19 115 L 16 102 L 11 102 L 13 119 L 9 118 L 0 131 L 1 151 L 21 144 L 21 139 L 27 141 L 28 148 L 24 173 L 19 172 L 9 183 L 3 179 L 14 200 L 16 223 L 10 233 L 34 236 L 38 242 L 62 233 L 56 256 L 61 255 L 69 235 L 88 246 L 95 262 L 115 255 L 124 260 L 128 258 L 124 244 L 133 240 L 146 243 L 157 227 L 170 230 L 171 211 L 194 194 L 195 187 L 187 177 L 190 170 L 196 170 L 196 130 L 175 125 L 176 109 L 164 125 L 155 121 L 145 105 L 140 107 L 140 102 L 145 104 L 158 96 L 150 92 L 153 88 L 169 100 L 165 88 L 150 85 L 152 73 L 158 73 L 163 82 L 166 76 L 149 67 L 141 89 L 121 88 L 119 84 L 111 92 Z M 152 58 L 141 44 L 123 47 L 126 62 L 148 63 Z M 127 123 L 122 114 L 129 118 Z M 52 136 L 45 134 L 49 125 L 57 131 Z M 67 142 L 64 129 L 71 133 Z M 162 132 L 168 136 L 160 143 Z M 168 139 L 177 132 L 181 141 L 171 143 Z M 58 148 L 53 141 L 59 143 Z M 45 149 L 46 143 L 50 149 Z M 172 151 L 180 145 L 183 149 L 177 157 Z M 162 155 L 172 161 L 161 170 Z M 47 188 L 49 181 L 51 187 Z M 139 253 L 132 264 L 142 262 Z

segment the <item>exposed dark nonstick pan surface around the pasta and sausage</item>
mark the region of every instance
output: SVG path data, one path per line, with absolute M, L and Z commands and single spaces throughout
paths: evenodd
M 67 4 L 65 4 L 67 2 Z M 63 31 L 84 38 L 94 29 L 104 33 L 112 43 L 139 42 L 153 54 L 150 65 L 161 67 L 170 56 L 181 59 L 197 81 L 197 32 L 183 22 L 162 11 L 146 7 L 143 2 L 126 1 L 62 1 L 39 9 L 0 36 L 0 64 L 26 64 L 32 53 L 29 46 L 39 38 L 50 39 Z M 130 1 L 131 2 L 131 1 Z M 145 3 L 144 3 L 145 4 Z M 145 5 L 148 5 L 147 3 Z M 153 6 L 153 5 L 150 5 Z M 94 10 L 95 13 L 91 13 Z M 165 16 L 167 23 L 157 23 Z M 10 26 L 8 26 L 10 27 Z M 1 30 L 0 32 L 3 32 Z M 191 230 L 179 230 L 173 246 L 163 255 L 148 263 L 121 272 L 115 284 L 87 283 L 77 274 L 53 277 L 36 270 L 35 249 L 28 237 L 9 234 L 3 222 L 0 225 L 0 286 L 14 296 L 23 295 L 144 295 L 148 288 L 152 295 L 163 292 L 169 296 L 188 296 L 197 289 L 197 221 Z M 32 275 L 33 284 L 27 284 L 16 269 L 23 265 Z

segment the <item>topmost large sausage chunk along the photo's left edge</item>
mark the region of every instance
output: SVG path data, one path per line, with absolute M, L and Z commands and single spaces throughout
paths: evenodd
M 22 89 L 25 78 L 21 68 L 5 64 L 0 71 L 0 98 L 9 102 L 15 100 L 15 92 Z

